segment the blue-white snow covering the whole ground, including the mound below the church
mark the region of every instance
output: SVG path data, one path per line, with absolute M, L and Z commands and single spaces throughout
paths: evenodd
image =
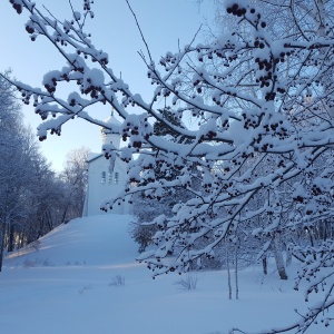
M 239 299 L 228 299 L 225 272 L 199 272 L 194 291 L 176 284 L 187 275 L 151 279 L 136 263 L 130 216 L 95 216 L 61 225 L 39 249 L 9 255 L 0 273 L 0 333 L 218 334 L 281 327 L 305 310 L 293 279 L 274 269 L 239 273 Z M 117 277 L 124 285 L 115 284 Z M 332 333 L 317 325 L 310 333 Z

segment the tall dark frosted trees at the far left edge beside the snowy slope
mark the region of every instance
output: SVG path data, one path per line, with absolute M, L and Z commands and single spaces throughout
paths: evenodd
M 16 90 L 1 77 L 0 271 L 6 250 L 37 240 L 62 222 L 58 205 L 67 194 L 41 156 L 36 135 L 23 126 L 18 102 Z

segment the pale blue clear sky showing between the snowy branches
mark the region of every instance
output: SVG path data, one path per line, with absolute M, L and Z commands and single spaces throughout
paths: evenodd
M 196 0 L 131 0 L 130 3 L 140 22 L 154 59 L 166 51 L 177 51 L 191 41 L 202 22 L 212 21 L 214 1 L 206 1 L 200 8 Z M 70 18 L 68 0 L 36 0 L 45 4 L 60 20 Z M 72 0 L 80 9 L 84 0 Z M 88 32 L 98 49 L 109 53 L 109 67 L 121 72 L 134 92 L 144 98 L 150 96 L 151 86 L 146 78 L 146 68 L 137 51 L 144 49 L 134 18 L 125 0 L 95 1 L 95 19 L 88 22 Z M 61 69 L 66 62 L 57 56 L 50 43 L 38 38 L 31 42 L 24 29 L 27 14 L 18 16 L 9 1 L 2 1 L 0 9 L 0 71 L 12 69 L 13 76 L 30 86 L 40 87 L 42 77 L 49 70 Z M 66 91 L 68 94 L 69 91 Z M 35 129 L 41 122 L 32 106 L 24 106 L 24 120 Z M 108 108 L 96 110 L 95 117 L 105 119 Z M 56 170 L 62 168 L 66 154 L 81 146 L 100 151 L 99 128 L 82 120 L 72 120 L 62 127 L 62 135 L 48 136 L 41 149 Z

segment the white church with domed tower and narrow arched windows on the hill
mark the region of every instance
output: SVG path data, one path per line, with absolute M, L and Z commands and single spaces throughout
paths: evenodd
M 119 126 L 120 122 L 111 115 L 106 124 L 114 124 Z M 102 144 L 112 144 L 116 148 L 119 148 L 120 136 L 115 134 L 102 132 Z M 100 209 L 101 204 L 110 198 L 117 196 L 122 189 L 126 181 L 126 163 L 116 158 L 115 164 L 110 164 L 110 160 L 106 159 L 104 154 L 90 154 L 88 157 L 88 187 L 85 200 L 85 207 L 82 216 L 92 215 L 106 215 Z M 108 214 L 128 214 L 129 204 L 124 203 L 121 205 L 115 205 L 112 210 L 108 210 Z

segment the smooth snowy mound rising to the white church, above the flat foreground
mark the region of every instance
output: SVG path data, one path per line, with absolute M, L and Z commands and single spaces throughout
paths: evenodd
M 50 262 L 50 265 L 109 265 L 134 262 L 138 246 L 128 236 L 131 216 L 101 215 L 77 218 L 61 225 L 40 238 L 38 252 L 33 248 L 8 257 L 7 265 L 16 263 Z

